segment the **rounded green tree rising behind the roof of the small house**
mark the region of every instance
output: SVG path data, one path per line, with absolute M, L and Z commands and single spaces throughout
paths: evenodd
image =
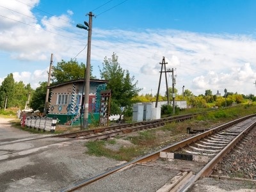
M 86 69 L 84 63 L 78 63 L 76 60 L 64 61 L 57 63 L 57 66 L 52 66 L 52 84 L 63 83 L 74 79 L 83 79 L 84 70 Z M 90 79 L 95 79 L 92 76 L 92 66 L 90 67 Z

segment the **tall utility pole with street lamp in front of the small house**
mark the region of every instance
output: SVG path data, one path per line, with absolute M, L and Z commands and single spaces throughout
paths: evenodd
M 86 76 L 85 76 L 85 91 L 84 91 L 84 122 L 83 129 L 88 127 L 89 116 L 89 93 L 90 93 L 90 66 L 91 66 L 91 43 L 92 43 L 92 12 L 89 15 L 88 26 L 88 44 L 87 44 L 87 60 L 86 60 Z M 86 24 L 86 22 L 85 22 Z

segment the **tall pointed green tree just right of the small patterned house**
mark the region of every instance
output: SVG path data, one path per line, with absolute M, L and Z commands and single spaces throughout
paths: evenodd
M 133 83 L 134 76 L 131 77 L 128 70 L 123 70 L 120 67 L 118 56 L 116 56 L 115 52 L 113 52 L 111 58 L 105 57 L 102 65 L 102 68 L 99 67 L 100 77 L 109 81 L 107 89 L 112 90 L 111 113 L 121 114 L 120 108 L 131 108 L 132 98 L 140 92 L 141 89 L 136 87 L 138 81 Z

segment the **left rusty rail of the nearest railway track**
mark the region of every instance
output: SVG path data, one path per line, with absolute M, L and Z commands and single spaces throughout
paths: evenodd
M 228 122 L 227 124 L 220 125 L 220 126 L 214 128 L 214 129 L 211 129 L 209 131 L 203 132 L 201 134 L 198 134 L 196 136 L 188 138 L 188 139 L 186 139 L 184 141 L 180 141 L 179 143 L 175 143 L 173 145 L 170 145 L 170 146 L 164 147 L 164 148 L 162 148 L 160 150 L 157 150 L 156 152 L 152 152 L 151 154 L 147 154 L 146 156 L 139 157 L 138 159 L 134 159 L 133 161 L 124 163 L 124 164 L 122 164 L 122 165 L 120 165 L 120 166 L 118 166 L 116 168 L 113 168 L 113 169 L 109 170 L 108 172 L 104 172 L 104 173 L 102 173 L 100 175 L 97 175 L 95 177 L 92 177 L 90 179 L 81 180 L 81 182 L 79 182 L 77 184 L 74 184 L 73 186 L 70 186 L 68 188 L 61 189 L 61 191 L 63 191 L 63 192 L 75 191 L 76 189 L 82 188 L 83 186 L 86 186 L 88 184 L 91 184 L 91 183 L 99 180 L 99 179 L 102 179 L 102 178 L 110 175 L 111 173 L 115 173 L 118 170 L 122 170 L 123 168 L 125 168 L 127 166 L 132 166 L 133 164 L 136 164 L 136 163 L 145 163 L 145 162 L 148 162 L 148 161 L 154 161 L 154 160 L 159 158 L 160 152 L 169 152 L 169 151 L 178 150 L 179 148 L 185 147 L 186 145 L 194 143 L 195 141 L 198 141 L 198 140 L 200 140 L 202 138 L 205 138 L 206 136 L 209 136 L 210 134 L 212 134 L 214 132 L 218 132 L 221 129 L 225 129 L 226 127 L 230 127 L 230 126 L 232 126 L 234 124 L 238 124 L 239 122 L 242 122 L 243 120 L 246 120 L 246 119 L 251 118 L 253 116 L 256 116 L 256 114 L 244 116 L 244 117 L 239 118 L 237 120 L 233 120 L 232 122 Z M 243 133 L 241 133 L 241 134 L 243 134 Z M 225 148 L 227 148 L 227 147 L 225 147 Z M 210 161 L 210 162 L 212 162 L 212 161 Z M 192 180 L 191 180 L 191 182 L 192 182 Z M 193 181 L 193 182 L 195 182 L 195 181 Z

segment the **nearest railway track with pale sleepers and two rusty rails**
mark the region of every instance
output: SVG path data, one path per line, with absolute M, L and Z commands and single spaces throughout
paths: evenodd
M 101 180 L 104 177 L 120 170 L 125 170 L 135 164 L 147 164 L 152 161 L 156 161 L 160 157 L 170 159 L 175 158 L 175 156 L 178 155 L 181 157 L 180 159 L 186 159 L 192 156 L 192 160 L 196 161 L 196 158 L 193 159 L 196 155 L 199 156 L 199 161 L 204 164 L 200 171 L 193 175 L 190 170 L 182 170 L 182 174 L 186 174 L 181 175 L 179 179 L 177 179 L 178 182 L 164 186 L 164 188 L 168 188 L 169 191 L 188 191 L 200 177 L 207 177 L 211 175 L 214 166 L 220 162 L 221 159 L 230 152 L 237 143 L 239 143 L 243 136 L 255 127 L 255 125 L 255 115 L 239 118 L 209 131 L 205 131 L 202 134 L 193 136 L 187 140 L 165 147 L 157 152 L 153 152 L 152 154 L 148 154 L 147 156 L 122 164 L 93 178 L 82 180 L 78 184 L 74 184 L 69 188 L 61 189 L 61 191 L 75 191 L 79 188 L 84 188 L 84 186 L 93 184 L 93 182 Z M 203 157 L 207 158 L 204 159 Z M 182 186 L 180 187 L 179 184 L 181 181 Z M 177 186 L 179 186 L 179 189 Z

